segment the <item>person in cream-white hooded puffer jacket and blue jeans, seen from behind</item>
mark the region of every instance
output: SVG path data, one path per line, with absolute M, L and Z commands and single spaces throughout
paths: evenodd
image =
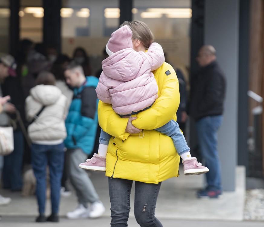
M 36 222 L 58 222 L 60 186 L 64 166 L 65 112 L 67 98 L 55 86 L 50 72 L 41 72 L 26 98 L 28 134 L 32 141 L 31 162 L 37 179 L 36 195 L 39 216 Z M 42 109 L 44 107 L 44 109 Z M 41 113 L 40 110 L 42 109 Z M 38 116 L 36 116 L 38 115 Z M 51 185 L 51 215 L 46 219 L 46 167 L 49 166 Z

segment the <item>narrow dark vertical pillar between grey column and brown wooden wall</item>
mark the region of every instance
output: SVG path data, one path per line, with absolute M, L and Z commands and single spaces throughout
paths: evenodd
M 248 80 L 249 80 L 249 0 L 240 0 L 238 65 L 238 165 L 249 167 L 248 150 Z

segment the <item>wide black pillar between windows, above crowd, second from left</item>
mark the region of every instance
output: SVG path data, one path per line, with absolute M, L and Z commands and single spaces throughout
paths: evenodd
M 43 0 L 43 43 L 57 47 L 58 53 L 61 49 L 61 0 Z

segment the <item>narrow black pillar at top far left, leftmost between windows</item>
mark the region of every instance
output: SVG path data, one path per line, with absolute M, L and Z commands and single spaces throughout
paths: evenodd
M 10 18 L 9 18 L 9 53 L 16 55 L 19 42 L 19 8 L 20 0 L 9 0 Z

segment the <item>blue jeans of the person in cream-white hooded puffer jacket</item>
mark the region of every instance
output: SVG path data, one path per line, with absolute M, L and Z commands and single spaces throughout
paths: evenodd
M 47 166 L 50 171 L 51 212 L 58 214 L 60 203 L 60 186 L 64 166 L 64 143 L 58 145 L 41 145 L 32 143 L 31 162 L 37 179 L 36 196 L 39 213 L 45 213 Z

